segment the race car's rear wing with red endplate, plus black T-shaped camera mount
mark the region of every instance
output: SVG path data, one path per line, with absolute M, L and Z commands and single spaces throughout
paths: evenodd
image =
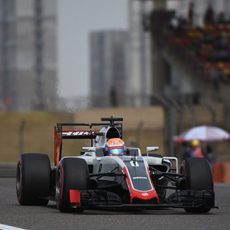
M 57 123 L 54 127 L 54 164 L 57 165 L 62 158 L 62 140 L 63 139 L 90 139 L 91 147 L 93 140 L 105 133 L 99 132 L 93 128 L 100 126 L 116 127 L 122 136 L 123 118 L 103 117 L 100 123 Z

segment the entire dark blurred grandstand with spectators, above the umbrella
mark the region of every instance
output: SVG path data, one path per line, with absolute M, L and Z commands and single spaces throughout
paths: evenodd
M 196 4 L 198 9 L 201 3 Z M 205 124 L 230 129 L 230 21 L 226 12 L 210 10 L 208 3 L 195 19 L 190 6 L 188 14 L 178 14 L 177 8 L 155 4 L 150 15 L 152 104 L 165 108 L 169 152 L 175 147 L 170 138 L 200 125 L 201 117 L 211 118 Z M 220 112 L 223 116 L 217 121 Z

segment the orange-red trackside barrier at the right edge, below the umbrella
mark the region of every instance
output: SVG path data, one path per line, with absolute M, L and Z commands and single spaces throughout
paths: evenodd
M 230 183 L 230 162 L 217 162 L 213 165 L 213 179 L 216 183 Z

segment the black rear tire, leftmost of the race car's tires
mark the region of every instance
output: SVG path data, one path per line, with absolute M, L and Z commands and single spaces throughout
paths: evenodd
M 50 160 L 40 153 L 21 154 L 17 164 L 16 193 L 21 205 L 46 206 L 50 195 Z

